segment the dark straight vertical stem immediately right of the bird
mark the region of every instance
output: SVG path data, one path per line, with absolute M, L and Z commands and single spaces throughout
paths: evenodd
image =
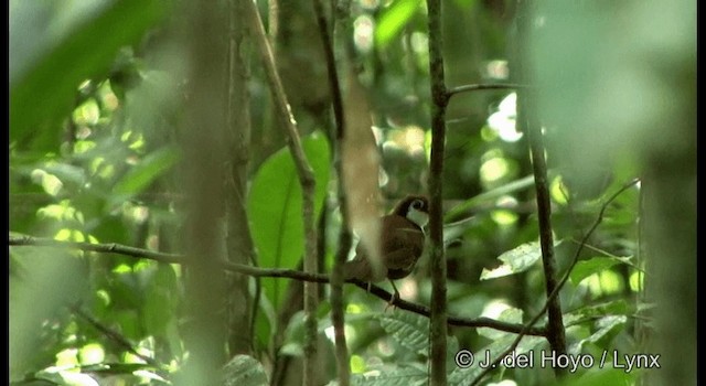
M 446 385 L 446 256 L 443 250 L 443 223 L 441 194 L 443 176 L 443 146 L 446 141 L 446 107 L 449 98 L 443 75 L 441 39 L 441 0 L 428 0 L 429 12 L 429 72 L 431 99 L 431 164 L 429 173 L 431 239 L 431 385 Z

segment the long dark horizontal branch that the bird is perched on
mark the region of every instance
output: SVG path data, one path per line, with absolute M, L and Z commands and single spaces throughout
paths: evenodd
M 85 251 L 96 251 L 104 254 L 117 254 L 124 255 L 135 258 L 145 258 L 149 260 L 154 260 L 159 262 L 165 264 L 184 264 L 186 261 L 185 256 L 179 254 L 165 254 L 159 253 L 148 249 L 129 247 L 120 244 L 90 244 L 90 243 L 78 243 L 78 242 L 58 242 L 51 238 L 38 238 L 30 236 L 21 236 L 21 237 L 10 237 L 9 238 L 10 246 L 34 246 L 34 247 L 54 247 L 54 248 L 64 248 L 64 249 L 79 249 Z M 221 267 L 224 270 L 231 272 L 237 272 L 254 277 L 268 277 L 268 278 L 289 278 L 301 281 L 310 281 L 310 282 L 321 282 L 328 283 L 329 276 L 324 274 L 308 274 L 296 269 L 284 269 L 284 268 L 258 268 L 246 266 L 242 264 L 235 264 L 229 261 L 221 261 Z M 353 283 L 362 289 L 367 290 L 368 283 L 366 281 L 350 279 L 346 282 Z M 389 301 L 393 298 L 393 294 L 384 290 L 383 288 L 372 285 L 370 286 L 370 292 L 376 296 L 379 299 L 385 301 Z M 393 305 L 414 312 L 424 317 L 429 317 L 430 311 L 429 308 L 413 303 L 399 297 L 394 299 Z M 505 323 L 501 321 L 496 321 L 489 318 L 459 318 L 459 317 L 449 317 L 448 318 L 449 325 L 456 326 L 469 326 L 469 328 L 490 328 L 499 331 L 518 333 L 523 331 L 524 325 L 514 324 L 514 323 Z M 546 334 L 546 329 L 544 328 L 532 328 L 526 331 L 527 335 L 537 335 L 544 336 Z

